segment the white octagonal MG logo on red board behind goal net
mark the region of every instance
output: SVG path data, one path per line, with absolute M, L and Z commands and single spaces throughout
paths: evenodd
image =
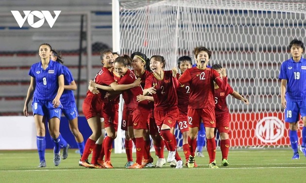
M 276 117 L 265 117 L 256 124 L 255 135 L 262 142 L 277 142 L 284 136 L 285 125 Z

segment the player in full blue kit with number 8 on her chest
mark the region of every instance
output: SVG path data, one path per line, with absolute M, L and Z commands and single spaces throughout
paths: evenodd
M 64 91 L 64 73 L 61 64 L 50 60 L 51 49 L 47 43 L 39 46 L 41 61 L 34 63 L 29 71 L 31 82 L 23 108 L 24 115 L 28 116 L 28 104 L 33 96 L 32 109 L 37 133 L 39 168 L 46 167 L 45 119 L 49 122 L 49 132 L 54 145 L 53 163 L 58 166 L 61 162 L 59 125 L 62 114 L 60 98 Z

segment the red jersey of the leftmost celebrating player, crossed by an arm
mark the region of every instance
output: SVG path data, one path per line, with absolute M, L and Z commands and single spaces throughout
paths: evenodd
M 95 76 L 94 81 L 99 84 L 99 85 L 104 85 L 104 86 L 109 86 L 111 83 L 115 82 L 113 74 L 106 68 L 102 67 L 102 69 L 99 71 L 99 73 Z M 99 89 L 99 96 L 104 99 L 104 96 L 107 91 Z M 95 95 L 90 91 L 87 91 L 87 96 L 88 95 Z

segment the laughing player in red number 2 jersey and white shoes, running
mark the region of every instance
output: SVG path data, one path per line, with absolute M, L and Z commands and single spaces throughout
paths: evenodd
M 150 59 L 153 75 L 146 79 L 143 95 L 152 94 L 154 98 L 154 118 L 159 133 L 165 140 L 169 151 L 167 162 L 177 160 L 176 168 L 183 168 L 182 158 L 176 152 L 176 139 L 170 132 L 179 115 L 176 90 L 179 86 L 172 71 L 164 71 L 164 57 L 154 55 Z

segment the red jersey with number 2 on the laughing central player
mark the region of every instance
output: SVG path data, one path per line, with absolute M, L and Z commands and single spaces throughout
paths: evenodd
M 161 80 L 158 80 L 153 74 L 146 79 L 145 89 L 153 86 L 156 89 L 156 93 L 153 94 L 156 110 L 169 110 L 177 106 L 177 79 L 172 76 L 172 71 L 163 72 L 164 78 Z

